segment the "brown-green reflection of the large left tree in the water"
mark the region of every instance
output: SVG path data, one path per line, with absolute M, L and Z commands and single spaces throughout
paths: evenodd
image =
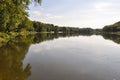
M 22 62 L 30 46 L 27 41 L 19 37 L 0 47 L 0 80 L 26 80 L 31 75 L 30 64 L 23 68 Z

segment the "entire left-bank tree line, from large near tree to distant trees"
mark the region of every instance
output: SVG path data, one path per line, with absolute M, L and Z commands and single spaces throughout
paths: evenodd
M 91 28 L 60 27 L 31 21 L 27 10 L 30 3 L 41 4 L 42 0 L 0 0 L 0 32 L 50 32 L 93 33 Z

